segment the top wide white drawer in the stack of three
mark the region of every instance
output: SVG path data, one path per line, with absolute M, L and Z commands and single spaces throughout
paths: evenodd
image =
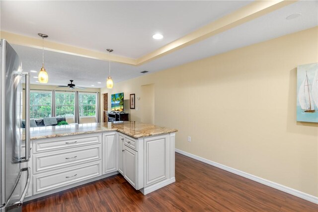
M 100 135 L 81 135 L 71 137 L 60 137 L 58 139 L 46 139 L 33 141 L 34 153 L 42 151 L 52 151 L 64 148 L 70 148 L 74 146 L 83 146 L 101 143 Z

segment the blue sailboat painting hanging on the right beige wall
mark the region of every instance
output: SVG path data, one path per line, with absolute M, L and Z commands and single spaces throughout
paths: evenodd
M 318 63 L 297 67 L 297 121 L 318 123 Z

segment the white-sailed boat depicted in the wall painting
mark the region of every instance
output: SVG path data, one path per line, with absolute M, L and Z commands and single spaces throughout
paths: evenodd
M 306 78 L 302 82 L 299 91 L 298 91 L 298 99 L 299 104 L 303 110 L 307 113 L 314 113 L 315 112 L 315 102 L 314 98 L 310 89 L 311 84 L 309 83 L 307 71 L 306 71 Z

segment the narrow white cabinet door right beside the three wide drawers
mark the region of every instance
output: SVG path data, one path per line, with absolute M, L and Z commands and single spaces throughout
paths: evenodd
M 110 173 L 117 170 L 116 158 L 116 133 L 103 134 L 103 173 Z

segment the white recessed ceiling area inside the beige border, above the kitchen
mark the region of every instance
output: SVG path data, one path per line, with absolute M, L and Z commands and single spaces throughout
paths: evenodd
M 139 58 L 250 2 L 1 1 L 1 30 Z

